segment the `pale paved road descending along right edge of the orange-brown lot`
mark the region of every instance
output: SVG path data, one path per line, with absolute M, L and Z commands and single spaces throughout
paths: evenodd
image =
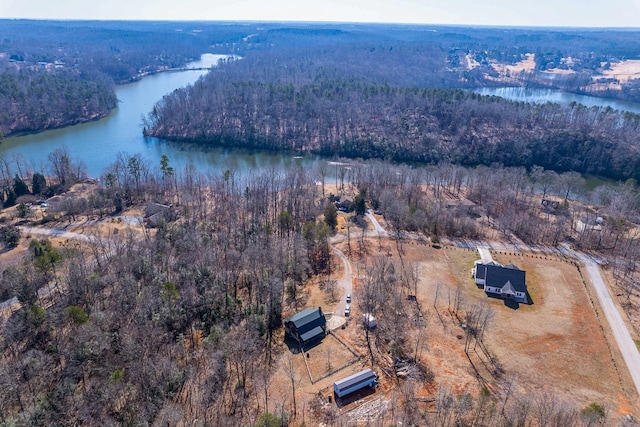
M 624 323 L 624 320 L 620 315 L 620 311 L 614 303 L 613 298 L 611 298 L 609 289 L 605 285 L 604 280 L 602 280 L 602 275 L 600 275 L 600 269 L 598 268 L 597 262 L 585 254 L 573 252 L 569 249 L 567 250 L 578 258 L 587 268 L 587 273 L 589 274 L 591 283 L 593 283 L 593 287 L 596 290 L 596 295 L 598 296 L 604 315 L 609 322 L 609 326 L 613 331 L 613 336 L 618 344 L 620 353 L 622 353 L 624 362 L 631 374 L 631 379 L 633 380 L 636 390 L 640 395 L 640 353 L 638 352 L 635 342 L 631 338 L 627 325 Z

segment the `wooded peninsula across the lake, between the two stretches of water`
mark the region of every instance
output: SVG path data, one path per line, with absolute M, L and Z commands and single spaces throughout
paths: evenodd
M 226 64 L 165 96 L 145 132 L 327 156 L 640 178 L 636 114 L 434 89 L 452 86 L 457 74 L 434 66 L 433 51 L 349 49 L 353 55 L 318 48 Z

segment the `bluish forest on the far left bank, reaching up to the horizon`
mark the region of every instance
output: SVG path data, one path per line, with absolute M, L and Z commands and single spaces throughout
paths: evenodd
M 0 136 L 105 117 L 115 84 L 196 60 L 239 26 L 0 20 Z M 230 51 L 221 47 L 221 52 Z

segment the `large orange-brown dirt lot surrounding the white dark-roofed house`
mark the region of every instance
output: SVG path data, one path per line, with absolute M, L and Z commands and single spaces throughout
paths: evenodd
M 428 308 L 431 325 L 423 358 L 440 384 L 471 392 L 482 383 L 479 374 L 486 381 L 484 386 L 497 387 L 495 392 L 500 392 L 501 384 L 508 380 L 523 393 L 552 390 L 560 399 L 579 407 L 599 402 L 613 412 L 624 413 L 620 396 L 627 396 L 628 388 L 616 370 L 615 355 L 575 265 L 539 255 L 494 252 L 496 261 L 513 262 L 527 271 L 533 304 L 512 309 L 501 299 L 487 297 L 471 279 L 473 261 L 479 258 L 476 251 L 438 251 L 419 245 L 405 249 L 406 258 L 421 262 L 418 299 Z M 477 372 L 464 354 L 464 340 L 460 339 L 464 332 L 452 313 L 458 289 L 465 305 L 484 302 L 495 312 L 486 343 L 503 368 L 499 377 L 490 373 L 488 359 L 478 349 L 470 355 Z

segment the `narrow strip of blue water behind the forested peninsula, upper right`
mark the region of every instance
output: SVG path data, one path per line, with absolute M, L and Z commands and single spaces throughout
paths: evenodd
M 526 87 L 482 87 L 473 90 L 480 95 L 494 95 L 512 101 L 545 103 L 553 102 L 568 105 L 572 102 L 587 107 L 611 107 L 614 110 L 631 111 L 640 114 L 640 103 L 620 101 L 616 99 L 598 98 L 596 96 L 577 95 L 555 89 L 534 89 Z

